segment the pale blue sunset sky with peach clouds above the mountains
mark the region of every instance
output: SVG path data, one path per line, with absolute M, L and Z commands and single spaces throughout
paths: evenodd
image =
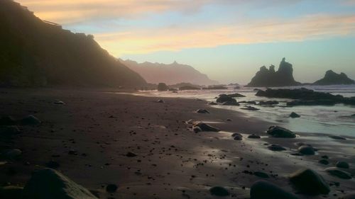
M 355 79 L 355 0 L 18 0 L 43 20 L 94 35 L 114 57 L 189 64 L 247 84 L 281 59 L 300 82 Z

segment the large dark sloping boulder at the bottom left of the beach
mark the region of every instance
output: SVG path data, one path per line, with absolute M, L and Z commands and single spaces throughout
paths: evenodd
M 86 188 L 53 169 L 33 173 L 23 193 L 26 198 L 33 199 L 97 199 Z

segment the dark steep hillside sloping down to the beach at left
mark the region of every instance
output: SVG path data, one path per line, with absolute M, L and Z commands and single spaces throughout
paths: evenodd
M 0 1 L 0 86 L 143 86 L 146 81 L 95 42 Z

